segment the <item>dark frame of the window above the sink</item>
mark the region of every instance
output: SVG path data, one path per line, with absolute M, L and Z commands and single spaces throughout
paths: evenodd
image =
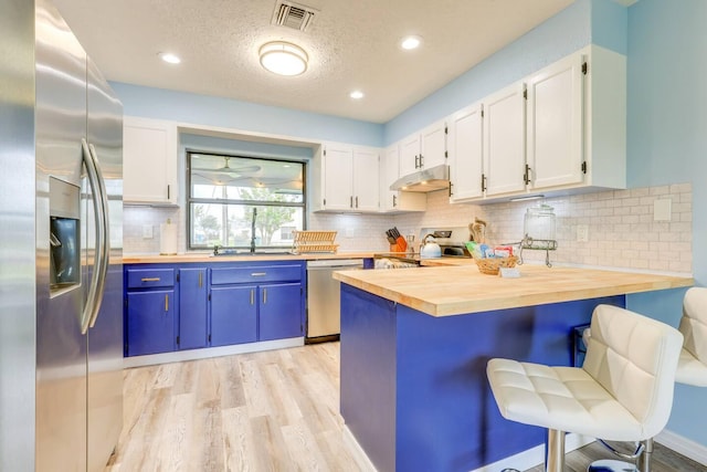
M 263 201 L 263 200 L 234 200 L 226 198 L 196 198 L 192 196 L 192 186 L 191 186 L 191 155 L 208 155 L 208 156 L 222 156 L 222 157 L 231 157 L 231 158 L 240 158 L 240 159 L 256 159 L 256 160 L 270 160 L 276 162 L 289 162 L 302 166 L 302 202 L 291 202 L 291 201 Z M 186 225 L 187 225 L 187 251 L 204 251 L 211 250 L 213 247 L 209 245 L 193 245 L 192 244 L 192 204 L 194 203 L 204 203 L 204 204 L 221 204 L 221 206 L 230 206 L 230 204 L 241 204 L 245 207 L 289 207 L 289 208 L 302 208 L 302 229 L 307 229 L 307 214 L 308 214 L 308 197 L 307 197 L 307 167 L 308 162 L 302 159 L 287 159 L 287 158 L 277 158 L 277 157 L 262 157 L 262 156 L 247 156 L 243 154 L 230 154 L 230 153 L 218 153 L 218 151 L 204 151 L 198 149 L 186 149 L 184 153 L 184 174 L 187 180 L 187 191 L 184 196 L 186 201 Z M 235 245 L 235 247 L 219 247 L 220 249 L 229 249 L 229 250 L 247 250 L 250 247 L 245 245 Z M 261 250 L 282 250 L 282 245 L 258 245 L 257 249 Z

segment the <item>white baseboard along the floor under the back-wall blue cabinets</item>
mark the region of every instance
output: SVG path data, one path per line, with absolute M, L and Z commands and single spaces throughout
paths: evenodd
M 176 350 L 173 353 L 149 354 L 123 358 L 123 367 L 141 367 L 155 364 L 180 363 L 182 360 L 208 359 L 209 357 L 232 356 L 234 354 L 258 353 L 261 350 L 282 349 L 304 346 L 304 337 L 263 340 L 260 343 L 234 344 L 232 346 L 204 347 L 201 349 Z

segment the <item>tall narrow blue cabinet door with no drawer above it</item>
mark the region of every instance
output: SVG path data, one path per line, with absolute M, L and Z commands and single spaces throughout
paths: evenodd
M 207 347 L 207 269 L 179 270 L 179 349 Z

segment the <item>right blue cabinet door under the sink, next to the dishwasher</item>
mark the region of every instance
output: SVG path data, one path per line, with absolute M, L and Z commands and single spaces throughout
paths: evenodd
M 302 284 L 260 286 L 260 340 L 303 335 Z

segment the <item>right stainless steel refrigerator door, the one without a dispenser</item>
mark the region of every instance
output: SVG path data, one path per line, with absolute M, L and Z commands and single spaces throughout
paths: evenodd
M 93 472 L 105 470 L 123 428 L 123 105 L 91 59 L 87 106 L 87 141 L 95 150 L 108 198 L 109 247 L 101 308 L 88 329 L 87 470 Z M 86 206 L 87 228 L 93 231 L 94 206 L 92 201 Z M 87 255 L 93 256 L 92 251 Z M 91 272 L 93 265 L 87 262 Z

